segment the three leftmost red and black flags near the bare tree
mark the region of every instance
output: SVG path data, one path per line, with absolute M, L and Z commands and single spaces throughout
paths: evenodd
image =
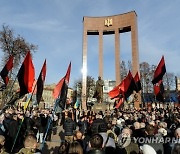
M 6 86 L 9 81 L 8 73 L 9 71 L 11 71 L 12 68 L 13 68 L 13 56 L 10 56 L 6 65 L 0 72 L 0 75 Z M 45 77 L 46 77 L 46 60 L 44 61 L 36 85 L 33 86 L 33 83 L 35 81 L 35 69 L 32 62 L 31 53 L 30 51 L 28 51 L 17 74 L 17 79 L 20 87 L 19 98 L 27 93 L 33 93 L 34 90 L 37 89 L 36 97 L 37 97 L 37 103 L 39 103 L 42 97 Z

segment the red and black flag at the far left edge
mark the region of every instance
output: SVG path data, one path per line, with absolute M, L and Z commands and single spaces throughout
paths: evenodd
M 0 75 L 1 75 L 6 86 L 7 86 L 8 81 L 9 81 L 8 73 L 12 68 L 13 68 L 13 56 L 10 56 L 6 65 L 4 66 L 2 71 L 0 72 Z

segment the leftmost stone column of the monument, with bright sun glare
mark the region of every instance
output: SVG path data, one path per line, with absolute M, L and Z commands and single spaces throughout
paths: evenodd
M 86 86 L 87 86 L 87 30 L 83 32 L 83 66 L 82 66 L 82 109 L 86 106 Z

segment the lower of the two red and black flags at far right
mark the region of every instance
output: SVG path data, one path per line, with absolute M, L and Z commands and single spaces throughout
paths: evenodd
M 154 94 L 157 101 L 164 102 L 164 85 L 162 80 L 154 85 Z

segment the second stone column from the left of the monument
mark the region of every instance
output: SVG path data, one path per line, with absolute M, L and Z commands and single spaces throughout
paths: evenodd
M 103 79 L 103 31 L 99 31 L 99 76 Z

